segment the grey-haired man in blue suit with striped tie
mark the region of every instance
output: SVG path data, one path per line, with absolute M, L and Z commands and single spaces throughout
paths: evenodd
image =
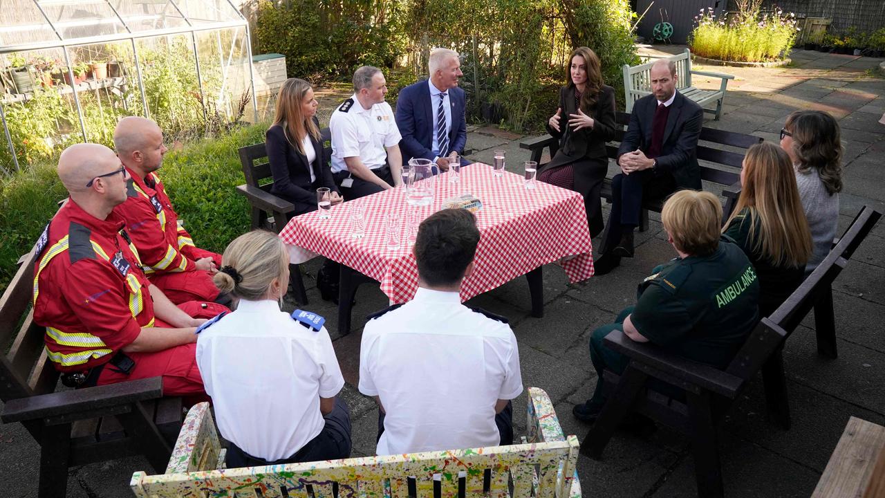
M 458 77 L 464 74 L 458 52 L 449 49 L 431 51 L 427 66 L 428 80 L 399 91 L 396 127 L 403 136 L 399 147 L 404 164 L 424 158 L 446 171 L 451 157 L 463 153 L 467 143 L 464 90 L 458 88 Z

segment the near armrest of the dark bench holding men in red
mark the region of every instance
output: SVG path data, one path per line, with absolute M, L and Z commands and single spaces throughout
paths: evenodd
M 22 422 L 36 418 L 74 416 L 78 413 L 99 416 L 100 410 L 123 407 L 135 401 L 163 397 L 163 378 L 150 377 L 119 384 L 98 385 L 85 389 L 60 391 L 10 400 L 0 415 L 5 423 Z

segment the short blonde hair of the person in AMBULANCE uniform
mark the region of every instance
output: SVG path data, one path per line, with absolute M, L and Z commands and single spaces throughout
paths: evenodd
M 661 222 L 676 249 L 705 256 L 719 247 L 722 205 L 710 192 L 678 191 L 664 203 Z

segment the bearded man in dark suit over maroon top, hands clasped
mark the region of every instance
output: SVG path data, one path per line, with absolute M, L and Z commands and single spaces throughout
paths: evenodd
M 621 173 L 612 178 L 612 213 L 596 275 L 612 271 L 622 257 L 633 257 L 633 230 L 639 225 L 643 199 L 701 189 L 696 147 L 704 110 L 676 91 L 677 77 L 672 60 L 658 60 L 651 66 L 651 95 L 633 105 L 618 148 Z

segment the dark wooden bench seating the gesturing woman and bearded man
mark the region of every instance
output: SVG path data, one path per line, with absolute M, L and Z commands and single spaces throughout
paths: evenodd
M 620 128 L 612 143 L 606 144 L 609 159 L 618 157 L 618 145 L 623 140 L 630 123 L 630 113 L 615 113 L 615 121 Z M 617 142 L 617 144 L 615 144 Z M 715 128 L 701 128 L 696 148 L 698 164 L 701 167 L 701 180 L 708 183 L 716 183 L 723 186 L 722 195 L 726 198 L 723 208 L 722 220 L 728 219 L 735 207 L 735 202 L 741 193 L 741 164 L 743 155 L 750 146 L 760 144 L 762 138 L 743 133 L 735 133 Z M 532 160 L 541 163 L 544 148 L 550 150 L 550 158 L 559 150 L 559 141 L 550 135 L 539 136 L 523 140 L 519 143 L 520 149 L 528 149 L 532 152 Z M 731 150 L 729 150 L 731 149 Z M 740 152 L 735 152 L 735 149 Z M 546 163 L 544 163 L 546 164 Z M 543 165 L 542 165 L 543 166 Z M 612 202 L 612 179 L 605 178 L 600 197 Z M 640 216 L 639 230 L 648 230 L 649 211 L 660 213 L 663 200 L 647 200 L 643 203 L 643 213 Z

